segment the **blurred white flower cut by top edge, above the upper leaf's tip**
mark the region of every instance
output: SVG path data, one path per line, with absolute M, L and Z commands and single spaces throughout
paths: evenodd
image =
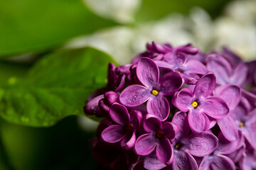
M 120 23 L 134 21 L 134 13 L 141 0 L 83 0 L 86 6 L 99 16 L 111 18 Z

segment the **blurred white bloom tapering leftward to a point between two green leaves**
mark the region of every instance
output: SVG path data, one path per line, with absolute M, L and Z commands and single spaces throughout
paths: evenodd
M 134 37 L 134 30 L 124 26 L 98 31 L 92 35 L 85 35 L 68 42 L 66 47 L 91 46 L 112 55 L 120 64 L 129 63 L 131 55 L 130 44 Z

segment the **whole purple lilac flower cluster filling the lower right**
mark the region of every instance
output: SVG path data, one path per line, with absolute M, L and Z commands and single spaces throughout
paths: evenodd
M 84 107 L 104 118 L 92 156 L 110 169 L 256 169 L 256 62 L 228 48 L 152 42 L 109 65 Z

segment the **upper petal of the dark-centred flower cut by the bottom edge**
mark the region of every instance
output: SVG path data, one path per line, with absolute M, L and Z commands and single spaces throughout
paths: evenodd
M 172 123 L 178 126 L 178 133 L 175 135 L 175 140 L 179 141 L 183 137 L 187 137 L 189 133 L 188 116 L 184 112 L 177 112 L 174 115 Z

